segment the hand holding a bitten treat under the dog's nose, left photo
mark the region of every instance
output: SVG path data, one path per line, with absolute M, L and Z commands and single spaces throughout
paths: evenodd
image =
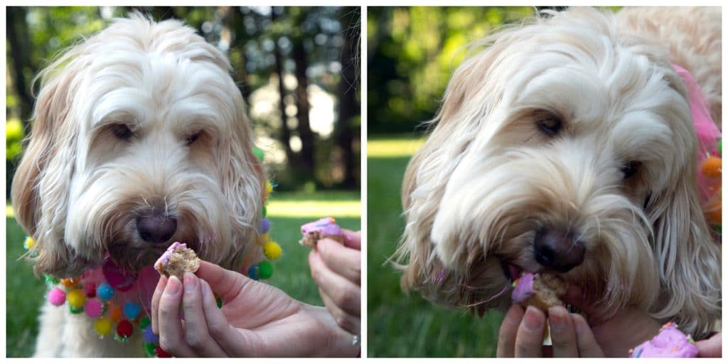
M 186 273 L 183 282 L 161 277 L 154 291 L 152 331 L 171 355 L 353 357 L 359 352 L 323 307 L 206 261 L 195 274 Z M 222 309 L 213 290 L 223 300 Z

